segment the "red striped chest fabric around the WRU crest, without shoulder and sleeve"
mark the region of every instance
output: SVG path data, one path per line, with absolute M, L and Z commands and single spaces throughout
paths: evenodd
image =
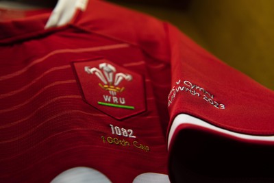
M 103 5 L 91 1 L 86 12 L 105 8 Z M 83 23 L 44 30 L 48 15 L 1 23 L 5 27 L 1 28 L 0 49 L 1 182 L 50 182 L 73 167 L 92 167 L 112 182 L 132 182 L 147 172 L 166 174 L 162 129 L 166 125 L 161 121 L 168 121 L 164 118 L 170 77 L 164 75 L 169 75 L 169 64 L 152 58 L 138 44 L 84 26 L 92 16 Z M 86 13 L 82 16 L 84 19 Z M 105 23 L 103 29 L 108 31 L 117 27 L 111 20 Z M 142 77 L 145 86 L 131 86 L 131 90 L 143 95 L 134 105 L 143 103 L 145 110 L 121 121 L 86 103 L 72 65 L 99 58 L 118 65 L 122 73 Z M 164 73 L 164 82 L 154 72 Z M 155 95 L 158 88 L 161 93 Z M 129 97 L 134 101 L 134 96 Z M 158 103 L 164 103 L 164 111 L 158 111 Z M 127 134 L 113 134 L 111 125 Z

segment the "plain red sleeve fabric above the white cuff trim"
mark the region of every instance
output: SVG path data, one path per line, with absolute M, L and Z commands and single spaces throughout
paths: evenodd
M 191 114 L 226 130 L 243 134 L 273 135 L 274 93 L 246 75 L 232 69 L 174 27 L 169 27 L 171 40 L 172 84 L 194 88 L 200 97 L 189 90 L 179 91 L 169 106 L 171 121 L 179 113 Z M 180 84 L 176 84 L 181 80 Z M 184 84 L 184 81 L 187 81 Z M 190 84 L 191 83 L 191 84 Z M 171 96 L 176 91 L 171 91 Z M 204 98 L 223 104 L 219 109 Z M 219 106 L 220 107 L 220 106 Z

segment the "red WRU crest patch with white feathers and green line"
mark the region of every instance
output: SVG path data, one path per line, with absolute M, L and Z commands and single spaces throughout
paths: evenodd
M 145 111 L 141 75 L 108 60 L 74 62 L 84 99 L 114 117 L 125 119 Z

